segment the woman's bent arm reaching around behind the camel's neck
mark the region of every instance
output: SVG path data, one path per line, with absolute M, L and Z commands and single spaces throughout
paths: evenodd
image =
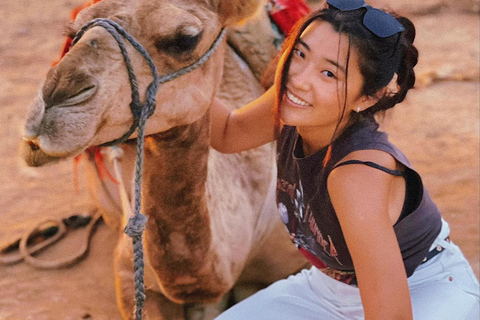
M 273 87 L 240 109 L 229 110 L 215 100 L 210 111 L 210 144 L 223 153 L 261 146 L 275 139 Z

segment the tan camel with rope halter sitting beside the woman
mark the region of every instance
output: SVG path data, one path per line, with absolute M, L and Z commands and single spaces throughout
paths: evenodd
M 262 4 L 102 0 L 81 11 L 71 26 L 73 35 L 93 18 L 117 22 L 150 53 L 160 74 L 191 64 L 222 28 L 229 28 L 228 41 L 204 65 L 160 86 L 155 113 L 147 121 L 142 185 L 142 212 L 148 216 L 146 319 L 211 319 L 225 308 L 219 301 L 234 286 L 261 288 L 308 266 L 277 213 L 274 144 L 231 155 L 209 146 L 213 99 L 238 107 L 263 92 L 259 77 L 277 48 Z M 241 57 L 246 34 L 260 40 Z M 127 49 L 144 99 L 149 69 L 133 48 Z M 41 166 L 122 136 L 132 122 L 130 101 L 117 43 L 103 28 L 89 29 L 50 69 L 28 112 L 24 160 Z M 124 181 L 131 185 L 134 140 L 121 148 Z M 96 163 L 83 159 L 105 221 L 122 230 L 126 218 L 115 184 L 99 179 Z M 131 239 L 119 232 L 115 282 L 124 319 L 134 314 L 132 252 Z

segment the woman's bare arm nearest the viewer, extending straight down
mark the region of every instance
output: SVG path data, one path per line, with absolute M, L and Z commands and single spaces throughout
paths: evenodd
M 387 165 L 385 161 L 373 161 L 395 169 L 395 160 L 390 158 Z M 353 259 L 366 320 L 412 319 L 407 276 L 391 214 L 391 204 L 399 203 L 392 196 L 398 198 L 398 190 L 392 190 L 402 185 L 398 179 L 403 178 L 361 164 L 338 167 L 328 178 L 328 191 Z M 396 210 L 401 207 L 397 205 Z

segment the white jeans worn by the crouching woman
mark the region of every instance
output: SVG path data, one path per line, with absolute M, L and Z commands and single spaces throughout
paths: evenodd
M 478 320 L 479 285 L 460 249 L 446 242 L 443 228 L 434 248 L 443 252 L 408 278 L 414 320 Z M 379 306 L 381 307 L 381 306 Z M 358 288 L 334 280 L 315 267 L 280 280 L 228 309 L 216 320 L 364 319 Z

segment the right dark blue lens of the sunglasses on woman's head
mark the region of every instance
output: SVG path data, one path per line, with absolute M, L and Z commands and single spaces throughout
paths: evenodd
M 375 8 L 368 8 L 363 18 L 363 24 L 381 38 L 390 37 L 405 30 L 402 24 L 393 16 Z

